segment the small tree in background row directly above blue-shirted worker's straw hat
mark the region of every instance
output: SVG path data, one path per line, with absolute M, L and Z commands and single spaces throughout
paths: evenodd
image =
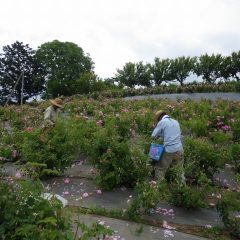
M 154 59 L 154 64 L 151 65 L 150 71 L 152 74 L 152 80 L 156 85 L 161 85 L 164 81 L 171 81 L 172 76 L 170 74 L 170 59 Z

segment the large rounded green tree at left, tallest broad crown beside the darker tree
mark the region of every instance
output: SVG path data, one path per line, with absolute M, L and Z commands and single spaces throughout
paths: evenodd
M 46 95 L 51 97 L 72 95 L 74 82 L 93 70 L 90 56 L 71 42 L 44 43 L 36 51 L 36 57 L 44 68 Z

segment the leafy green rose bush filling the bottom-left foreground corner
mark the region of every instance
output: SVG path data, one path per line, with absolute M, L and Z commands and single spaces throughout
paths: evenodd
M 41 185 L 30 181 L 0 185 L 1 239 L 73 239 L 62 204 L 41 197 Z

